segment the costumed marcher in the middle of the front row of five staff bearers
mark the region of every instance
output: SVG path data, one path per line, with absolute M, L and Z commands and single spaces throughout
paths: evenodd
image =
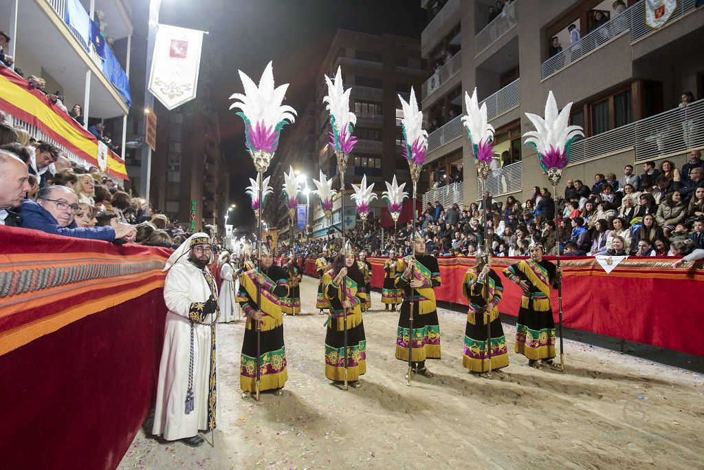
M 440 268 L 434 256 L 426 254 L 425 243 L 416 237 L 415 264 L 410 256 L 396 263 L 396 287 L 403 290 L 403 304 L 396 333 L 396 359 L 408 362 L 411 349 L 413 372 L 432 378 L 426 359 L 440 359 L 440 324 L 434 288 L 440 285 Z M 413 303 L 413 331 L 410 331 L 410 305 Z

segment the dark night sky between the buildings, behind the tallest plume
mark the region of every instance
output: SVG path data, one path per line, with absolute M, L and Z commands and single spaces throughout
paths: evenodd
M 256 175 L 242 121 L 229 109 L 230 95 L 242 91 L 237 70 L 258 82 L 268 61 L 274 61 L 276 85 L 290 84 L 284 104 L 303 112 L 315 99 L 315 80 L 337 30 L 420 38 L 427 11 L 420 0 L 163 0 L 160 22 L 210 32 L 203 39 L 201 79 L 211 80 L 220 111 L 222 151 L 232 174 L 230 199 L 237 204 L 229 223 L 237 228 L 253 221 L 244 188 Z M 286 135 L 284 128 L 282 142 Z

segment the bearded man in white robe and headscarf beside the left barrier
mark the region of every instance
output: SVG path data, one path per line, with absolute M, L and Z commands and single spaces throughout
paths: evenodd
M 213 247 L 195 233 L 168 259 L 166 314 L 152 433 L 165 440 L 202 445 L 199 431 L 215 428 L 215 321 L 218 287 L 207 266 Z

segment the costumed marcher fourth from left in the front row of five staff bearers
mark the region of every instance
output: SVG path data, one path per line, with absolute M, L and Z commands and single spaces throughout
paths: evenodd
M 491 369 L 508 366 L 506 338 L 498 316 L 498 302 L 503 295 L 503 285 L 501 278 L 491 269 L 491 260 L 487 263 L 486 256 L 477 256 L 477 266 L 465 273 L 462 291 L 469 304 L 462 365 L 472 373 L 489 371 L 486 338 L 488 319 L 491 333 Z

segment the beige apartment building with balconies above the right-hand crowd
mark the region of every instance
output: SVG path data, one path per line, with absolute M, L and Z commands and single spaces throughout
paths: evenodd
M 678 108 L 681 94 L 704 94 L 704 11 L 681 0 L 659 29 L 644 23 L 645 5 L 612 0 L 515 0 L 491 22 L 489 0 L 424 0 L 435 16 L 422 32 L 429 72 L 422 109 L 431 127 L 429 185 L 462 172 L 463 183 L 427 192 L 424 201 L 479 199 L 474 157 L 459 116 L 464 94 L 477 87 L 496 128 L 495 170 L 487 180 L 494 197 L 525 200 L 546 187 L 532 147 L 526 112 L 541 115 L 548 91 L 585 137 L 572 146 L 563 175 L 593 183 L 595 173 L 620 175 L 626 164 L 665 159 L 681 166 L 691 149 L 704 147 L 704 101 Z M 597 14 L 599 13 L 599 14 Z M 568 27 L 580 38 L 570 43 Z M 551 50 L 557 37 L 561 51 Z M 551 56 L 551 54 L 553 54 Z M 434 123 L 434 125 L 433 125 Z M 700 124 L 696 124 L 700 123 Z

